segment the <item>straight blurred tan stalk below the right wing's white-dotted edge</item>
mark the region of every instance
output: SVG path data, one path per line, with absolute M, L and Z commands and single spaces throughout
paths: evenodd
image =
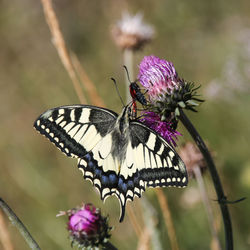
M 156 189 L 156 195 L 157 195 L 157 198 L 158 198 L 158 201 L 160 203 L 160 207 L 161 207 L 161 210 L 163 213 L 165 225 L 166 225 L 167 230 L 168 230 L 168 236 L 169 236 L 169 240 L 170 240 L 171 249 L 178 250 L 179 246 L 178 246 L 178 242 L 177 242 L 176 232 L 174 229 L 174 224 L 172 221 L 171 212 L 170 212 L 170 209 L 168 206 L 167 197 L 163 193 L 161 188 Z

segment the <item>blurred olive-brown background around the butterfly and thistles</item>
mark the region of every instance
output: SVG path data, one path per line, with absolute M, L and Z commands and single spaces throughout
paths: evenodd
M 155 29 L 154 39 L 134 55 L 134 75 L 145 55 L 172 61 L 179 75 L 201 85 L 204 104 L 187 113 L 213 151 L 229 200 L 250 192 L 250 2 L 211 1 L 87 1 L 55 0 L 67 47 L 79 58 L 106 107 L 122 105 L 110 78 L 125 98 L 123 52 L 114 44 L 111 27 L 124 11 L 144 14 Z M 51 41 L 42 4 L 32 0 L 0 1 L 0 197 L 16 212 L 42 249 L 71 249 L 66 218 L 56 218 L 81 202 L 93 203 L 110 215 L 111 242 L 119 249 L 137 249 L 139 239 L 126 215 L 118 222 L 116 198 L 105 204 L 74 159 L 68 159 L 33 129 L 46 109 L 79 103 L 67 71 Z M 190 140 L 179 127 L 181 144 Z M 224 229 L 208 172 L 205 185 L 224 245 Z M 164 189 L 180 249 L 214 249 L 197 182 L 186 189 Z M 154 190 L 144 193 L 154 210 L 162 249 L 171 249 Z M 145 208 L 131 204 L 143 224 Z M 229 205 L 235 249 L 250 248 L 249 199 Z M 2 215 L 3 216 L 3 215 Z M 28 249 L 5 218 L 14 249 Z M 0 242 L 0 249 L 3 245 Z M 153 248 L 152 248 L 153 249 Z

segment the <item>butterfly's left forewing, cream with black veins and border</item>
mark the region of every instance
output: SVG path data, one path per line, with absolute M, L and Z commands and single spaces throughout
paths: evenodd
M 83 157 L 110 130 L 117 114 L 90 105 L 62 106 L 44 112 L 34 127 L 70 157 Z

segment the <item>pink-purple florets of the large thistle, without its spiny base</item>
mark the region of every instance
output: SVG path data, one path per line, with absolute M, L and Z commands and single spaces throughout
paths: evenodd
M 171 95 L 179 88 L 178 74 L 171 62 L 153 55 L 145 56 L 139 69 L 138 79 L 148 90 L 151 102 L 162 100 L 165 94 Z

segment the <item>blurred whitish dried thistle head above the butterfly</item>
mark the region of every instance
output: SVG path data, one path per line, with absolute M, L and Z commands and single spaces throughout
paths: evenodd
M 143 22 L 141 13 L 131 16 L 125 12 L 111 33 L 115 43 L 121 49 L 137 50 L 152 40 L 154 28 Z

